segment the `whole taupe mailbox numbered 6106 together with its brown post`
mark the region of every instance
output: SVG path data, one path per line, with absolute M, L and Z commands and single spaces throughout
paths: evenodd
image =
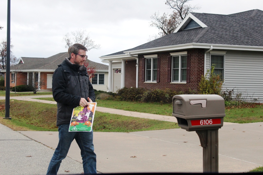
M 218 95 L 176 95 L 173 116 L 182 129 L 198 134 L 203 147 L 203 172 L 218 172 L 218 129 L 224 122 L 224 99 Z

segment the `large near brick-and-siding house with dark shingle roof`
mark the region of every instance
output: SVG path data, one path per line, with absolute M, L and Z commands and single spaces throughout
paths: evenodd
M 128 41 L 127 41 L 128 42 Z M 174 33 L 149 43 L 101 56 L 109 63 L 109 87 L 121 68 L 120 88 L 197 90 L 215 65 L 223 89 L 244 100 L 263 102 L 263 11 L 230 15 L 189 13 Z

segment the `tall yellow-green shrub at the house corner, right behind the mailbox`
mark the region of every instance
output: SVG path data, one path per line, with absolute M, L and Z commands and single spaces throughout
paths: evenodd
M 198 88 L 199 94 L 221 94 L 223 82 L 221 76 L 216 75 L 214 70 L 215 67 L 211 66 L 210 75 L 208 75 L 209 70 L 206 72 L 205 76 L 202 75 Z

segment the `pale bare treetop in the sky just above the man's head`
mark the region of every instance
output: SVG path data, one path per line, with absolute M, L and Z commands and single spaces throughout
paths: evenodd
M 66 42 L 65 48 L 69 48 L 74 43 L 79 43 L 85 46 L 88 51 L 91 49 L 100 49 L 99 44 L 95 44 L 95 42 L 89 38 L 89 34 L 86 34 L 85 29 L 79 29 L 77 31 L 65 34 L 63 40 Z

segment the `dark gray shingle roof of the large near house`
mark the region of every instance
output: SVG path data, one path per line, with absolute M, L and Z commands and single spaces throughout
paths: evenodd
M 208 27 L 181 30 L 132 49 L 150 49 L 188 43 L 263 46 L 263 11 L 249 10 L 230 15 L 191 13 Z M 123 51 L 105 55 L 120 55 Z

